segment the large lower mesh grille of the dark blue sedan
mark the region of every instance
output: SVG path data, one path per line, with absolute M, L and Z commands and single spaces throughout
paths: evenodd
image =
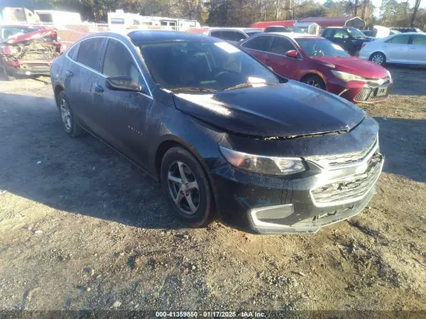
M 363 198 L 376 183 L 381 173 L 382 163 L 381 154 L 375 153 L 364 173 L 351 175 L 311 190 L 313 200 L 316 204 L 325 206 L 354 202 Z

